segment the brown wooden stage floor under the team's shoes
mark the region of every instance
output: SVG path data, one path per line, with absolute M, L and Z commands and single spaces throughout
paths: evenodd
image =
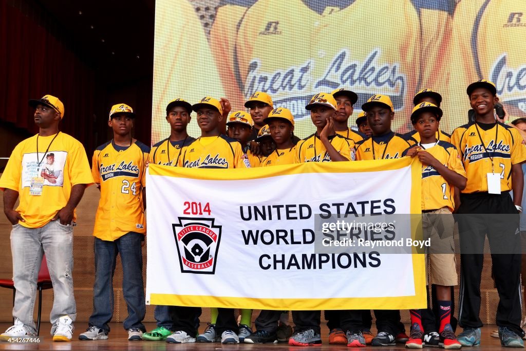
M 2 332 L 10 327 L 10 323 L 0 323 L 0 330 Z M 206 325 L 201 324 L 201 329 L 204 329 Z M 73 340 L 70 343 L 54 343 L 52 337 L 49 335 L 50 325 L 49 323 L 42 323 L 41 326 L 41 336 L 39 343 L 27 343 L 27 344 L 10 344 L 8 342 L 0 342 L 0 350 L 134 350 L 134 351 L 154 351 L 154 350 L 184 350 L 184 351 L 223 351 L 223 350 L 285 350 L 298 351 L 301 349 L 307 350 L 345 350 L 347 347 L 345 345 L 329 345 L 328 340 L 328 329 L 325 325 L 321 327 L 322 333 L 322 342 L 321 346 L 309 346 L 309 347 L 297 347 L 289 346 L 287 343 L 279 344 L 263 344 L 263 345 L 251 345 L 251 344 L 238 344 L 238 345 L 221 345 L 220 343 L 192 343 L 192 344 L 168 344 L 163 341 L 151 342 L 151 341 L 135 341 L 129 342 L 127 339 L 127 332 L 123 329 L 122 323 L 111 323 L 110 327 L 112 331 L 109 334 L 109 339 L 107 340 L 95 340 L 95 341 L 80 341 L 78 335 L 84 331 L 86 328 L 86 323 L 78 323 L 73 334 Z M 146 323 L 148 330 L 155 328 L 154 323 Z M 406 326 L 409 328 L 409 326 Z M 489 336 L 491 330 L 495 329 L 495 326 L 484 326 L 482 328 L 482 343 L 476 348 L 466 348 L 473 349 L 477 351 L 482 350 L 502 350 L 504 347 L 500 345 L 500 341 L 497 338 L 492 338 Z M 375 331 L 373 330 L 373 333 Z M 459 333 L 459 332 L 458 332 Z M 404 345 L 397 346 L 383 346 L 383 347 L 371 347 L 363 349 L 377 349 L 377 350 L 406 350 Z M 424 347 L 426 349 L 426 347 Z M 428 350 L 433 350 L 436 348 L 429 347 Z

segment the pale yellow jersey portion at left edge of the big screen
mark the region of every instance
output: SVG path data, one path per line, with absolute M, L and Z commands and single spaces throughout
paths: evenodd
M 177 21 L 174 21 L 174 14 L 177 14 Z M 188 101 L 199 101 L 204 87 L 208 96 L 230 94 L 225 94 L 222 89 L 222 74 L 219 74 L 199 14 L 189 1 L 156 3 L 154 46 L 151 141 L 157 143 L 170 134 L 165 107 L 174 96 L 187 96 Z M 196 53 L 199 53 L 198 61 L 191 59 Z M 206 74 L 203 74 L 204 67 Z M 179 79 L 181 72 L 192 79 Z M 201 133 L 194 121 L 188 124 L 188 132 L 194 135 Z

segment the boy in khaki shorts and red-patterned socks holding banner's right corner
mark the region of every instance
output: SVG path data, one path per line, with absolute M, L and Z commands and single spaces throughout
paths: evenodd
M 463 190 L 467 179 L 457 149 L 437 138 L 441 117 L 442 110 L 436 105 L 423 102 L 415 106 L 411 114 L 411 123 L 419 134 L 420 142 L 407 149 L 403 155 L 417 156 L 422 162 L 422 230 L 423 239 L 431 240 L 427 254 L 430 258 L 431 281 L 437 286 L 439 346 L 458 349 L 461 345 L 450 322 L 451 287 L 457 285 L 454 219 L 451 212 L 454 209 L 453 187 Z M 426 264 L 427 262 L 426 257 Z M 411 335 L 406 343 L 407 348 L 422 348 L 423 312 L 426 312 L 426 309 L 410 310 Z M 432 324 L 433 329 L 437 330 L 434 320 Z

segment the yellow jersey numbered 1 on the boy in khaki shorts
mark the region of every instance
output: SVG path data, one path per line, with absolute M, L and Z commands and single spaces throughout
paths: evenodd
M 408 150 L 404 151 L 402 156 L 406 156 Z M 436 145 L 425 150 L 451 171 L 466 177 L 457 148 L 453 144 L 439 140 Z M 453 192 L 454 187 L 434 167 L 422 165 L 422 210 L 447 206 L 453 211 L 455 208 Z

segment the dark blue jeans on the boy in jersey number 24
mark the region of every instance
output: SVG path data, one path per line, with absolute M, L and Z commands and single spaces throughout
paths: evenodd
M 129 232 L 113 242 L 95 238 L 95 285 L 93 287 L 93 313 L 88 324 L 109 332 L 113 317 L 113 274 L 117 254 L 123 265 L 123 295 L 128 306 L 124 329 L 139 328 L 146 331 L 143 319 L 146 305 L 143 286 L 142 234 Z

